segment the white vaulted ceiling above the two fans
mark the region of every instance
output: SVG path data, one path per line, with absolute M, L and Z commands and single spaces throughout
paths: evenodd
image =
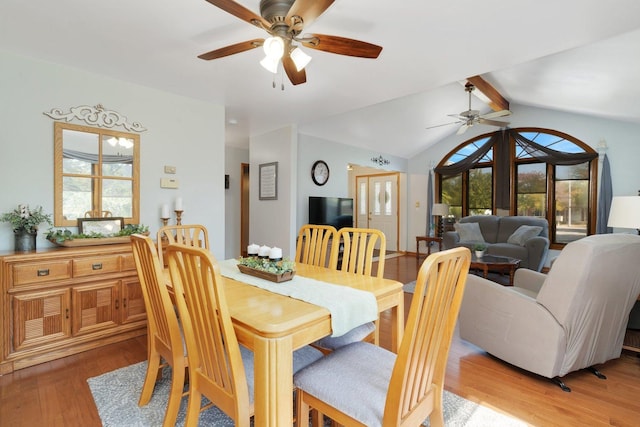
M 258 0 L 239 3 L 259 13 Z M 456 131 L 425 128 L 467 109 L 460 82 L 476 75 L 512 109 L 640 122 L 637 0 L 615 7 L 601 0 L 337 0 L 306 31 L 383 50 L 377 59 L 306 50 L 313 57 L 307 83 L 291 86 L 259 65 L 261 49 L 198 59 L 265 36 L 205 0 L 0 4 L 0 49 L 223 104 L 230 145 L 296 124 L 301 133 L 408 158 Z

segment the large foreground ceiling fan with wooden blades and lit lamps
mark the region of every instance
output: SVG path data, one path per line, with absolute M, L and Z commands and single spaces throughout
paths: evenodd
M 207 1 L 265 30 L 269 37 L 236 43 L 198 56 L 204 60 L 222 58 L 263 46 L 267 56 L 260 64 L 275 74 L 282 62 L 291 83 L 298 85 L 307 81 L 304 67 L 311 60 L 298 44 L 309 49 L 360 58 L 377 58 L 382 51 L 381 46 L 345 37 L 324 34 L 301 36 L 302 31 L 322 15 L 334 0 L 261 0 L 260 16 L 233 0 Z

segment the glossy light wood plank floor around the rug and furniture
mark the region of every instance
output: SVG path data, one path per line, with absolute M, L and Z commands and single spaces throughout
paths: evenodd
M 407 283 L 417 268 L 413 256 L 393 258 L 385 276 Z M 408 309 L 411 295 L 405 298 Z M 389 330 L 383 318 L 387 347 Z M 87 378 L 145 358 L 146 338 L 139 337 L 1 376 L 0 426 L 100 426 Z M 640 358 L 624 352 L 600 368 L 607 380 L 571 373 L 564 379 L 573 391 L 565 393 L 455 337 L 445 388 L 535 426 L 640 426 Z

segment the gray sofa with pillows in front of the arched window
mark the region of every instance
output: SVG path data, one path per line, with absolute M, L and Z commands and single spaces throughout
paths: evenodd
M 465 225 L 472 223 L 477 224 L 480 235 L 474 233 L 473 226 Z M 539 227 L 539 231 L 532 227 Z M 476 243 L 485 243 L 487 254 L 518 258 L 520 267 L 534 271 L 542 270 L 549 252 L 549 224 L 544 218 L 475 215 L 461 218 L 454 228 L 457 231 L 444 233 L 445 249 L 466 246 L 473 250 Z

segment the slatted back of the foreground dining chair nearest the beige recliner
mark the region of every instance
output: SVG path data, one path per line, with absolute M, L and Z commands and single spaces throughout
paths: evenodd
M 383 425 L 419 425 L 434 407 L 441 410 L 447 357 L 470 262 L 469 249 L 460 247 L 432 254 L 422 264 Z

